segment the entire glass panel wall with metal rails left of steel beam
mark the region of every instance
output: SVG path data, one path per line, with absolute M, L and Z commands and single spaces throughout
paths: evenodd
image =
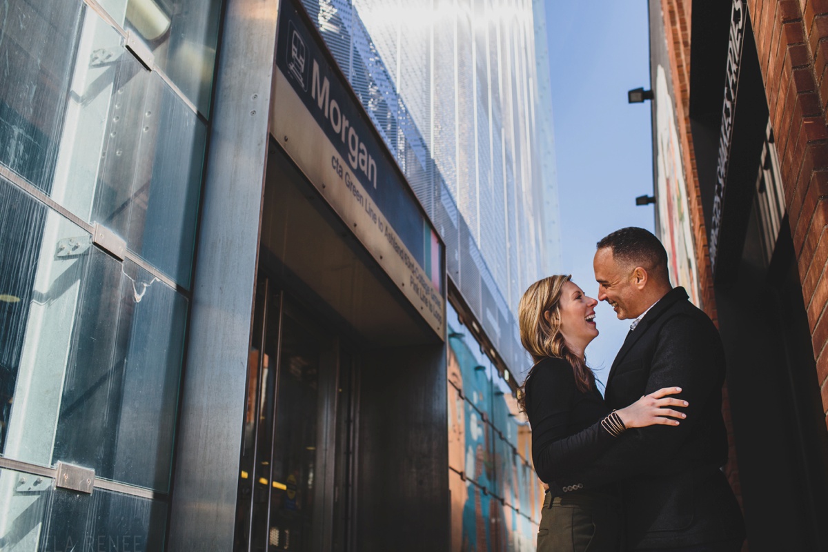
M 163 549 L 220 4 L 0 2 L 0 456 L 158 497 L 4 471 L 0 550 Z

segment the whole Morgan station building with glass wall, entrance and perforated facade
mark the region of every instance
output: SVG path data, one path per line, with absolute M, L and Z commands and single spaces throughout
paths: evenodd
M 530 0 L 0 7 L 0 548 L 532 550 L 545 51 Z

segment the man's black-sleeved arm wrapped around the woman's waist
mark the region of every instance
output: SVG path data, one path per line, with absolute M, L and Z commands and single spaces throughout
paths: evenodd
M 608 482 L 632 478 L 652 469 L 668 468 L 688 436 L 705 421 L 705 412 L 720 410 L 710 404 L 719 397 L 724 378 L 724 360 L 714 330 L 686 314 L 668 319 L 659 331 L 657 348 L 644 394 L 662 387 L 679 386 L 678 397 L 690 403 L 687 417 L 678 426 L 651 425 L 628 430 L 619 442 L 595 462 L 577 471 L 558 474 L 556 484 L 567 487 L 581 483 L 598 487 Z

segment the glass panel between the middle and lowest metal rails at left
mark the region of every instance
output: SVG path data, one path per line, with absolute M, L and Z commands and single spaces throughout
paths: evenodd
M 186 298 L 2 179 L 0 214 L 2 455 L 166 492 Z

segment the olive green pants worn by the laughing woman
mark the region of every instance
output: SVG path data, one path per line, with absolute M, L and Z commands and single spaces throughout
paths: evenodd
M 621 506 L 614 497 L 590 491 L 566 497 L 546 493 L 537 552 L 618 552 L 621 541 Z

